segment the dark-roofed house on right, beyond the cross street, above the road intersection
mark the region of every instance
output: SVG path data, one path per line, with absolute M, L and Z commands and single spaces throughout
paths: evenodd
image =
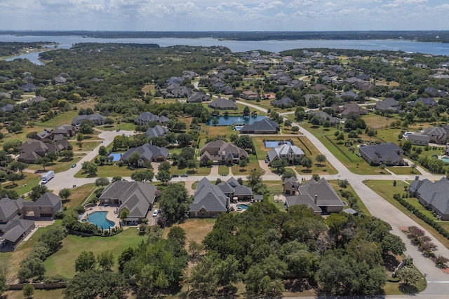
M 403 160 L 403 150 L 394 142 L 370 146 L 361 146 L 358 153 L 369 165 L 407 165 Z

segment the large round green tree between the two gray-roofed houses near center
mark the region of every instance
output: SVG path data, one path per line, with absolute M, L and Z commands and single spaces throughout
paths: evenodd
M 184 218 L 192 202 L 187 190 L 180 184 L 170 184 L 162 190 L 159 198 L 159 206 L 163 211 L 163 217 L 168 221 L 176 221 Z

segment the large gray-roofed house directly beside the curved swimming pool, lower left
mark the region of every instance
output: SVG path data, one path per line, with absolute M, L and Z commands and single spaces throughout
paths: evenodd
M 156 186 L 140 181 L 114 181 L 103 190 L 98 199 L 102 204 L 119 206 L 119 213 L 128 209 L 125 223 L 138 224 L 153 208 L 156 190 Z

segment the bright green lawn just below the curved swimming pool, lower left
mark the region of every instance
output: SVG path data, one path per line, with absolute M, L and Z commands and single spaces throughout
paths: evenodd
M 147 236 L 139 236 L 134 227 L 130 227 L 118 235 L 112 237 L 79 237 L 68 235 L 62 240 L 62 248 L 49 256 L 43 265 L 47 273 L 52 275 L 61 274 L 65 277 L 74 277 L 75 259 L 81 251 L 92 251 L 95 256 L 103 251 L 110 250 L 114 258 L 118 258 L 121 252 L 128 247 L 135 248 Z M 116 268 L 116 265 L 115 267 Z

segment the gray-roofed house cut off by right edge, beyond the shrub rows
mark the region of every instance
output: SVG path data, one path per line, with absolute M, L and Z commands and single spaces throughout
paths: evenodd
M 449 220 L 449 180 L 445 177 L 431 182 L 428 179 L 415 179 L 408 188 L 410 194 L 431 211 L 438 214 L 441 220 Z

